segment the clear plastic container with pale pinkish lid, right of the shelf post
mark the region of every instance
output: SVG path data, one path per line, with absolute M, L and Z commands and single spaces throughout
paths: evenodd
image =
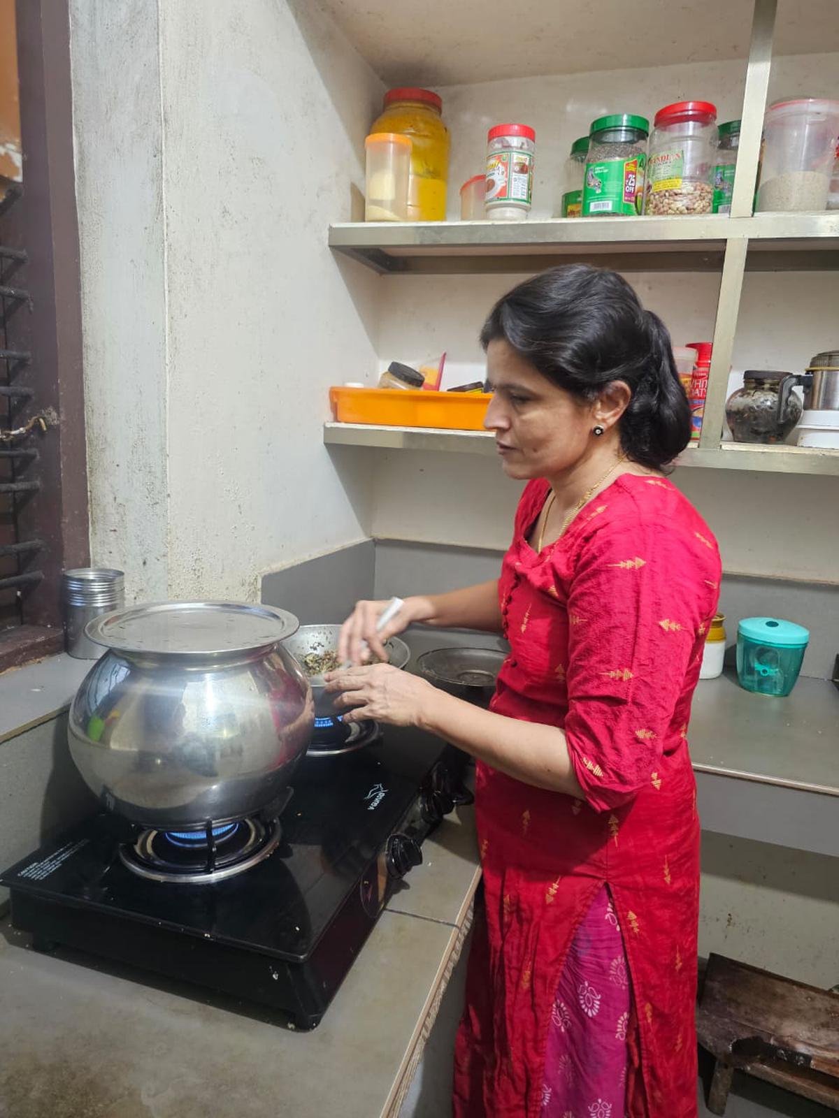
M 757 209 L 827 207 L 839 136 L 839 101 L 800 97 L 766 110 Z

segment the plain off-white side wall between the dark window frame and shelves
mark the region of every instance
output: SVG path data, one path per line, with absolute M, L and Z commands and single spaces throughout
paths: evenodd
M 257 595 L 361 539 L 369 466 L 322 446 L 376 360 L 339 265 L 383 86 L 303 0 L 75 0 L 94 562 L 131 597 Z

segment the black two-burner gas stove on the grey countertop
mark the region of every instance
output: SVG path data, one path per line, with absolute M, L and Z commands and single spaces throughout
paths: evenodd
M 285 803 L 200 830 L 96 815 L 0 875 L 16 928 L 319 1024 L 421 844 L 459 803 L 464 756 L 413 729 L 310 751 Z

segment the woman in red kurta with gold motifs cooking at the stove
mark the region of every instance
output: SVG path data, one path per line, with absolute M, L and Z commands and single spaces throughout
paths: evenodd
M 472 754 L 486 920 L 455 1052 L 456 1118 L 696 1115 L 699 823 L 690 701 L 714 538 L 662 471 L 689 438 L 670 338 L 616 274 L 520 284 L 481 334 L 486 425 L 527 480 L 498 581 L 359 603 L 341 657 L 413 622 L 502 632 L 489 711 L 387 665 L 338 672 L 349 721 Z

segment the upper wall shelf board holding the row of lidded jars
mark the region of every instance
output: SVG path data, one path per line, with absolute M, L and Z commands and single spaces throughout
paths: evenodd
M 839 266 L 839 212 L 361 221 L 329 229 L 334 252 L 383 275 L 534 272 L 572 259 L 622 272 L 718 272 L 733 243 L 746 245 L 746 271 L 833 269 Z

